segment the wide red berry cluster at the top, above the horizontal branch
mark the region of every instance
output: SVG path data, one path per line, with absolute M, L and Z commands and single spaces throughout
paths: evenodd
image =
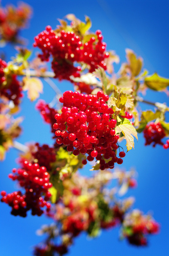
M 105 58 L 109 57 L 109 53 L 105 52 L 106 44 L 102 42 L 100 30 L 96 31 L 96 37 L 83 44 L 83 40 L 73 31 L 62 30 L 56 34 L 51 26 L 47 26 L 35 37 L 34 47 L 42 50 L 42 54 L 38 55 L 42 61 L 48 61 L 52 56 L 55 78 L 71 80 L 70 75 L 80 75 L 80 66 L 75 66 L 77 62 L 87 64 L 89 72 L 93 72 L 98 65 L 106 70 Z

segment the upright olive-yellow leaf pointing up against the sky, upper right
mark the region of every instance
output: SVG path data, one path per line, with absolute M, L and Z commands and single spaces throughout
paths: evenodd
M 131 74 L 136 77 L 142 68 L 142 58 L 141 57 L 136 57 L 134 52 L 130 49 L 126 49 L 126 58 L 130 66 Z

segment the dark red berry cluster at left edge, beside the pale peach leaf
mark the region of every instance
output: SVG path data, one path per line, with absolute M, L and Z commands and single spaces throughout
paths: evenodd
M 16 79 L 16 75 L 12 75 L 6 81 L 4 76 L 4 68 L 7 67 L 7 63 L 4 60 L 0 59 L 0 96 L 6 97 L 8 100 L 12 100 L 15 105 L 20 103 L 20 98 L 22 95 L 22 88 L 19 84 L 19 81 Z M 7 85 L 3 85 L 3 82 L 6 81 Z

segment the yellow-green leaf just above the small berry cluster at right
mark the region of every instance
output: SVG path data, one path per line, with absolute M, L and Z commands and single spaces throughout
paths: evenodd
M 137 132 L 141 133 L 148 122 L 157 119 L 160 117 L 161 111 L 157 110 L 155 113 L 151 110 L 143 111 L 141 114 L 141 120 L 139 122 L 139 127 L 137 128 Z

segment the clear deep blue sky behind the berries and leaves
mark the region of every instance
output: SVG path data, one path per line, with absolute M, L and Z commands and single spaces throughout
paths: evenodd
M 17 1 L 2 0 L 2 5 Z M 25 0 L 34 9 L 30 27 L 21 33 L 28 38 L 28 47 L 32 49 L 34 37 L 45 29 L 47 25 L 55 28 L 57 18 L 63 18 L 68 13 L 74 13 L 79 19 L 84 20 L 84 15 L 91 18 L 92 31 L 100 29 L 107 49 L 113 49 L 120 56 L 121 62 L 125 61 L 125 48 L 133 49 L 138 56 L 144 58 L 144 67 L 152 74 L 155 71 L 161 76 L 169 77 L 169 1 L 164 0 Z M 8 45 L 4 51 L 9 60 L 15 50 Z M 35 51 L 35 50 L 34 50 Z M 118 71 L 119 65 L 115 66 Z M 56 81 L 62 92 L 71 89 L 68 82 Z M 53 98 L 52 90 L 44 86 L 42 99 L 50 102 Z M 145 99 L 166 102 L 169 99 L 164 93 L 148 93 Z M 28 107 L 29 106 L 29 107 Z M 35 103 L 30 103 L 26 97 L 22 104 L 20 115 L 24 116 L 23 134 L 19 142 L 36 141 L 52 143 L 50 127 L 43 124 L 39 114 L 34 111 Z M 149 109 L 148 105 L 142 108 Z M 169 115 L 167 116 L 169 122 Z M 102 232 L 101 236 L 87 241 L 85 235 L 75 240 L 70 249 L 70 256 L 161 256 L 169 255 L 169 150 L 161 146 L 144 146 L 144 139 L 139 135 L 135 141 L 135 149 L 127 153 L 123 168 L 129 170 L 131 166 L 138 172 L 138 188 L 127 194 L 136 198 L 135 208 L 145 213 L 153 212 L 154 218 L 161 223 L 159 235 L 149 237 L 147 248 L 135 248 L 126 241 L 118 241 L 118 229 Z M 1 179 L 0 190 L 8 193 L 17 189 L 14 182 L 8 179 L 8 174 L 17 164 L 17 151 L 11 149 L 7 153 L 5 162 L 0 163 Z M 85 172 L 86 173 L 86 172 Z M 0 243 L 2 256 L 30 256 L 33 245 L 42 240 L 35 231 L 45 223 L 51 223 L 45 217 L 27 218 L 11 216 L 10 208 L 1 204 L 0 211 Z

